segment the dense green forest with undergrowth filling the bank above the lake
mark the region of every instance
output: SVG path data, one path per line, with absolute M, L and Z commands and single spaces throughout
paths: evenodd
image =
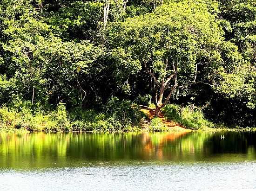
M 255 127 L 256 1 L 0 1 L 0 129 L 130 131 L 142 106 Z

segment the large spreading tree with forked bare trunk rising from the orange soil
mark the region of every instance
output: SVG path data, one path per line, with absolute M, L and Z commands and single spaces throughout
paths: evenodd
M 115 24 L 109 38 L 111 45 L 133 54 L 154 79 L 157 117 L 177 88 L 214 81 L 221 67 L 222 35 L 216 15 L 205 4 L 183 2 Z

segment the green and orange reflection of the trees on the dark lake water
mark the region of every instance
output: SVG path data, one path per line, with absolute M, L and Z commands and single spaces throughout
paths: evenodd
M 68 166 L 75 162 L 256 158 L 255 133 L 0 134 L 0 166 Z M 242 155 L 241 155 L 242 154 Z M 238 156 L 237 155 L 237 156 Z M 236 156 L 236 160 L 238 160 Z M 229 158 L 230 160 L 230 158 Z

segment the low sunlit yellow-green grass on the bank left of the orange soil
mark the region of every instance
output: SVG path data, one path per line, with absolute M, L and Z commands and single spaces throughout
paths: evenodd
M 134 131 L 132 124 L 121 124 L 114 117 L 107 117 L 94 110 L 77 110 L 67 112 L 64 105 L 48 114 L 36 113 L 23 108 L 0 108 L 0 129 L 12 131 Z

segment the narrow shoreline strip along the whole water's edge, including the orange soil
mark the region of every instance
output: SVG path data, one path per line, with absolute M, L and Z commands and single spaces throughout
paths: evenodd
M 73 127 L 66 128 L 65 130 L 60 130 L 61 128 L 54 127 L 49 128 L 46 124 L 41 125 L 44 128 L 34 128 L 34 127 L 7 127 L 5 124 L 0 124 L 0 133 L 146 133 L 146 132 L 256 132 L 256 127 L 228 127 L 222 124 L 214 124 L 211 127 L 199 127 L 199 128 L 189 128 L 181 123 L 168 119 L 164 113 L 161 111 L 158 118 L 155 118 L 155 108 L 143 107 L 140 110 L 147 118 L 137 125 L 137 126 L 123 126 L 123 129 L 113 130 L 113 128 L 90 128 L 90 130 L 78 130 Z M 156 124 L 154 124 L 154 119 L 157 119 Z M 83 129 L 83 127 L 81 128 Z

